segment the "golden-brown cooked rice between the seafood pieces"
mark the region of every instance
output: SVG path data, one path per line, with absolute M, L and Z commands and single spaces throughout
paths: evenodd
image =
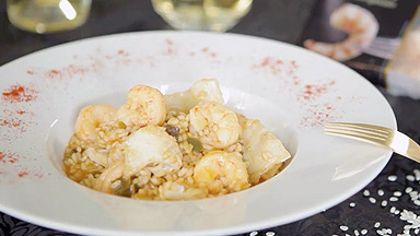
M 235 189 L 234 182 L 229 182 L 225 177 L 220 177 L 209 185 L 198 184 L 194 180 L 194 167 L 197 162 L 207 153 L 214 150 L 213 146 L 202 144 L 202 150 L 195 151 L 194 145 L 188 142 L 188 138 L 196 138 L 189 132 L 189 118 L 184 113 L 170 110 L 163 127 L 171 126 L 175 140 L 177 141 L 183 154 L 182 167 L 175 173 L 165 173 L 163 169 L 152 174 L 148 168 L 140 170 L 136 176 L 130 177 L 131 198 L 151 200 L 174 200 L 195 199 L 205 197 L 215 197 L 226 194 L 241 189 Z M 101 174 L 107 166 L 119 160 L 125 160 L 124 143 L 128 137 L 136 132 L 140 127 L 129 127 L 120 121 L 102 123 L 96 128 L 97 139 L 86 141 L 73 134 L 65 151 L 62 161 L 66 174 L 74 181 L 89 188 L 97 189 Z M 214 127 L 209 129 L 213 129 Z M 205 133 L 209 130 L 205 130 Z M 171 134 L 171 132 L 168 132 Z M 86 150 L 91 150 L 86 152 Z M 243 154 L 243 144 L 238 141 L 224 149 L 226 152 L 237 152 Z M 101 161 L 103 156 L 105 161 Z M 104 162 L 104 163 L 102 163 Z M 276 173 L 278 169 L 275 170 Z M 275 173 L 270 173 L 272 176 Z M 110 182 L 112 189 L 119 189 L 124 181 L 117 178 Z M 180 196 L 171 196 L 167 188 L 183 188 L 185 191 Z

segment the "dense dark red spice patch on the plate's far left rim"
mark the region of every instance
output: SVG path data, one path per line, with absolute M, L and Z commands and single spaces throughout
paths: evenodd
M 2 99 L 10 103 L 31 102 L 37 98 L 38 92 L 23 85 L 11 85 L 2 93 Z

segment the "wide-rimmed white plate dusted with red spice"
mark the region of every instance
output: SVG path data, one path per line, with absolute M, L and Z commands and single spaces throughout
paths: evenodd
M 313 215 L 366 186 L 390 156 L 324 135 L 323 125 L 396 128 L 386 99 L 358 73 L 252 36 L 144 32 L 91 38 L 4 64 L 0 78 L 0 211 L 80 234 L 236 234 Z M 81 107 L 118 106 L 135 84 L 171 93 L 202 78 L 217 78 L 229 106 L 260 119 L 285 143 L 294 157 L 282 173 L 237 193 L 175 202 L 109 196 L 66 178 L 62 152 Z

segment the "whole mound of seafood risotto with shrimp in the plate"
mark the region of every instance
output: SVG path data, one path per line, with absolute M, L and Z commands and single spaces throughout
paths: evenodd
M 141 90 L 155 93 L 144 87 Z M 197 95 L 203 92 L 205 97 Z M 158 110 L 164 116 L 154 116 L 152 106 L 161 103 L 144 98 L 144 94 L 131 99 L 136 106 L 129 98 L 124 105 L 124 113 L 130 109 L 128 116 L 136 114 L 132 119 L 120 118 L 122 106 L 83 108 L 63 154 L 67 176 L 117 196 L 189 200 L 240 191 L 282 169 L 290 154 L 280 140 L 258 120 L 249 120 L 221 104 L 217 80 L 200 80 L 183 93 L 156 95 L 164 97 L 165 107 Z M 178 97 L 187 97 L 189 105 L 186 107 L 184 102 L 176 106 Z M 141 114 L 144 109 L 151 111 Z

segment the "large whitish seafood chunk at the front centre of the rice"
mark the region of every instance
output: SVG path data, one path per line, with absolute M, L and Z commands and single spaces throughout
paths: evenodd
M 164 128 L 148 125 L 130 134 L 124 145 L 125 176 L 136 175 L 143 168 L 153 174 L 176 172 L 183 154 L 175 139 Z

